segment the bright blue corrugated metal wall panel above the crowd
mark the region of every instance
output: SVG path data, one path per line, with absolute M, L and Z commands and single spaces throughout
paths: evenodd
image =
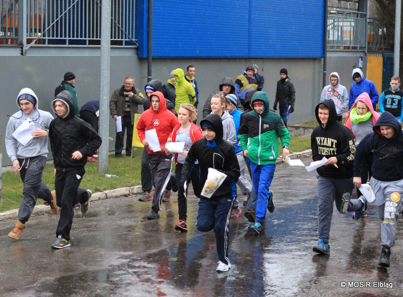
M 139 2 L 146 57 L 147 28 L 138 26 L 147 24 L 147 0 Z M 323 0 L 154 0 L 153 56 L 322 57 L 323 10 Z

